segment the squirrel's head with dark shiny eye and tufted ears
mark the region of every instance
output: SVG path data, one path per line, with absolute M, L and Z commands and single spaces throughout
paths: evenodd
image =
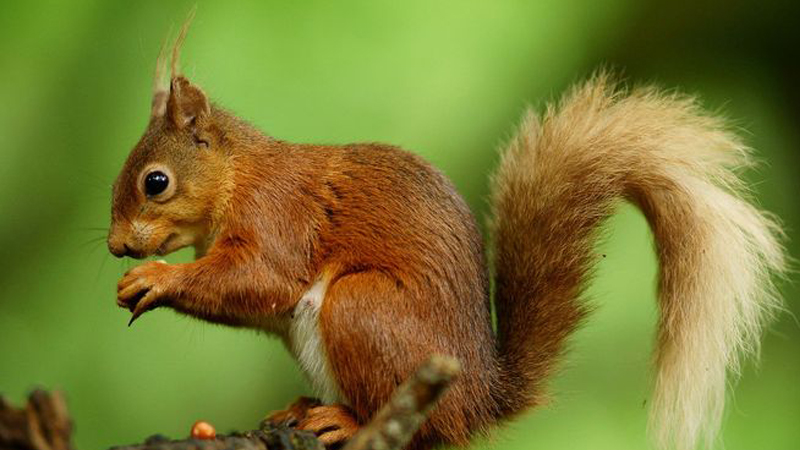
M 162 49 L 150 122 L 114 183 L 108 249 L 118 257 L 202 248 L 212 232 L 227 158 L 205 93 L 176 75 L 185 33 L 186 25 L 173 49 L 168 89 L 159 86 Z

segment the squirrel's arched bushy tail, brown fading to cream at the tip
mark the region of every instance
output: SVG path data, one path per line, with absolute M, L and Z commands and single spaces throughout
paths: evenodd
M 784 269 L 779 227 L 743 198 L 736 171 L 749 164 L 693 99 L 620 91 L 604 74 L 527 115 L 493 180 L 504 415 L 544 399 L 585 314 L 598 225 L 625 199 L 646 216 L 660 262 L 652 432 L 661 447 L 713 445 L 726 375 L 757 353 Z

